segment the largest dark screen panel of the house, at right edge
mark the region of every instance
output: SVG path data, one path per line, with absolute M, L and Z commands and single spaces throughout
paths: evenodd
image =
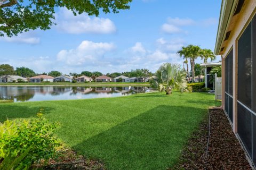
M 256 19 L 238 40 L 237 131 L 256 164 Z M 252 89 L 253 87 L 253 89 Z

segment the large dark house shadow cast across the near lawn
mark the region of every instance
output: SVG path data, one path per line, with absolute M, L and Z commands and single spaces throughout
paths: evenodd
M 73 148 L 101 160 L 107 169 L 166 169 L 178 162 L 206 113 L 203 108 L 157 106 Z

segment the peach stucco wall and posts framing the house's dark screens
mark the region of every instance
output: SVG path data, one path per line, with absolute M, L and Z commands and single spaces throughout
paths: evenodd
M 231 18 L 228 31 L 231 30 L 226 47 L 223 51 L 223 58 L 227 56 L 230 49 L 233 48 L 233 131 L 237 133 L 237 41 L 242 35 L 247 25 L 252 20 L 256 12 L 256 1 L 245 0 L 244 6 L 238 16 Z M 222 60 L 223 70 L 225 70 L 225 60 Z M 224 72 L 223 72 L 224 73 Z M 222 76 L 222 82 L 225 82 L 225 76 Z M 223 83 L 223 91 L 225 90 L 225 83 Z M 225 95 L 225 92 L 223 92 Z M 225 106 L 225 97 L 223 96 L 222 107 Z

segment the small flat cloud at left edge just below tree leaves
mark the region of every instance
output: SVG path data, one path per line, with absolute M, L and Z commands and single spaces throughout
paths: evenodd
M 29 31 L 29 32 L 23 32 L 20 33 L 18 36 L 13 37 L 0 37 L 0 40 L 9 42 L 9 43 L 18 43 L 18 44 L 39 44 L 40 38 L 36 36 L 35 32 Z

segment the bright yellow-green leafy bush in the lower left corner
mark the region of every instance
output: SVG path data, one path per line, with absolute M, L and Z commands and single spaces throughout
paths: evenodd
M 57 123 L 42 117 L 5 121 L 0 124 L 0 169 L 29 169 L 32 164 L 46 163 L 58 156 L 60 142 L 54 137 Z

